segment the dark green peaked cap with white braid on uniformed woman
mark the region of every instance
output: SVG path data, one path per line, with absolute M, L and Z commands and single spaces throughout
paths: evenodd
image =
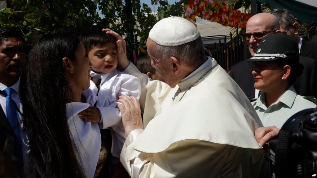
M 247 62 L 272 60 L 291 60 L 293 64 L 299 63 L 298 44 L 293 36 L 282 33 L 265 36 L 254 57 Z

